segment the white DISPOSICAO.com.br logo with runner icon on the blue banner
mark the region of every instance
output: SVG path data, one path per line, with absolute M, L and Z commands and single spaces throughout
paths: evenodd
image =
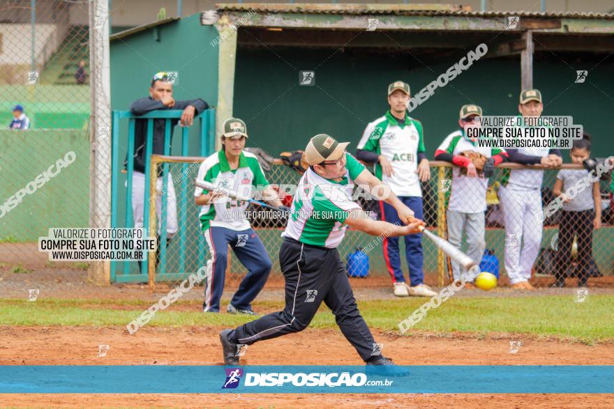
M 223 389 L 236 388 L 239 386 L 241 377 L 244 375 L 239 368 L 226 370 L 226 380 Z M 365 373 L 332 372 L 332 373 L 245 373 L 245 387 L 361 387 L 361 386 L 390 386 L 394 380 L 368 380 Z

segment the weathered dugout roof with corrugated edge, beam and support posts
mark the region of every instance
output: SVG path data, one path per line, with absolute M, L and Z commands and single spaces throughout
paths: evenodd
M 507 17 L 520 17 L 506 29 Z M 368 20 L 377 19 L 375 31 Z M 335 49 L 336 52 L 407 54 L 407 68 L 449 61 L 488 45 L 484 59 L 516 59 L 521 89 L 533 86 L 533 56 L 602 61 L 614 52 L 614 13 L 472 11 L 447 4 L 220 3 L 200 15 L 216 26 L 218 120 L 232 114 L 235 59 L 245 49 Z M 518 59 L 520 56 L 520 59 Z

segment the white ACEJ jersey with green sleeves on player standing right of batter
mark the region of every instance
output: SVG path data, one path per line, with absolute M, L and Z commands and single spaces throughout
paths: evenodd
M 382 167 L 375 164 L 375 176 L 389 185 L 397 196 L 422 196 L 418 179 L 419 152 L 424 152 L 422 124 L 405 115 L 405 123 L 398 123 L 388 111 L 384 116 L 369 123 L 358 144 L 359 149 L 384 155 L 394 174 L 382 175 Z

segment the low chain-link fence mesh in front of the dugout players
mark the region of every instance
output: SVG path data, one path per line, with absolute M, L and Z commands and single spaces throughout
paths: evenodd
M 195 205 L 193 199 L 194 187 L 192 180 L 196 174 L 196 167 L 191 166 L 190 164 L 192 163 L 194 163 L 193 159 L 189 162 L 186 160 L 184 164 L 169 163 L 170 173 L 174 179 L 174 190 L 177 194 L 179 232 L 170 241 L 165 256 L 165 265 L 158 265 L 157 273 L 162 273 L 165 279 L 170 281 L 179 281 L 179 278 L 183 279 L 185 277 L 184 275 L 178 275 L 177 279 L 173 279 L 173 273 L 196 271 L 200 265 L 203 265 L 204 258 L 208 254 L 205 240 L 200 231 L 199 208 Z M 504 164 L 503 166 L 521 168 L 521 165 L 518 164 Z M 578 166 L 567 164 L 564 167 L 577 168 Z M 518 249 L 522 249 L 526 241 L 523 240 L 522 236 L 514 236 L 517 233 L 506 232 L 504 228 L 505 206 L 502 205 L 500 199 L 500 190 L 505 172 L 507 172 L 507 169 L 497 168 L 495 174 L 488 182 L 488 191 L 484 196 L 487 210 L 479 215 L 479 217 L 483 218 L 484 222 L 484 235 L 482 238 L 472 236 L 472 230 L 467 229 L 465 225 L 465 229 L 462 229 L 465 234 L 462 239 L 459 239 L 461 240 L 461 247 L 465 252 L 470 251 L 468 247 L 474 242 L 478 242 L 480 256 L 476 258 L 482 261 L 481 270 L 497 273 L 500 276 L 507 275 L 505 268 L 506 248 L 518 246 Z M 548 206 L 548 203 L 553 202 L 555 199 L 552 189 L 558 172 L 558 170 L 544 171 L 544 183 L 541 189 L 542 199 L 539 207 L 540 217 L 541 208 Z M 282 164 L 272 165 L 271 171 L 266 172 L 266 176 L 269 183 L 276 185 L 296 185 L 301 177 L 299 173 Z M 450 196 L 454 192 L 452 168 L 447 164 L 442 164 L 442 162 L 433 162 L 431 178 L 422 185 L 422 191 L 424 221 L 427 228 L 437 233 L 437 235 L 449 239 L 450 221 L 447 219 L 447 210 Z M 541 234 L 537 258 L 532 268 L 534 275 L 553 276 L 559 271 L 562 275 L 567 275 L 568 277 L 577 277 L 581 272 L 587 272 L 591 277 L 601 274 L 613 274 L 614 220 L 610 204 L 611 192 L 607 182 L 601 182 L 600 192 L 603 196 L 600 229 L 593 229 L 592 222 L 594 218 L 590 219 L 590 223 L 581 226 L 573 223 L 570 224 L 569 222 L 565 223 L 564 217 L 570 218 L 570 215 L 566 215 L 565 210 L 558 210 L 553 213 L 543 224 L 540 218 L 537 221 L 537 225 L 533 226 Z M 280 193 L 280 199 L 282 199 L 285 205 L 290 206 L 292 196 L 282 192 Z M 373 211 L 374 217 L 380 217 L 379 206 L 377 206 L 376 202 L 360 199 L 359 203 L 365 210 Z M 255 205 L 250 205 L 248 210 L 263 210 L 253 206 Z M 153 203 L 151 211 L 153 211 Z M 267 213 L 267 211 L 264 211 L 264 215 Z M 255 213 L 248 212 L 248 214 L 254 215 Z M 518 219 L 519 224 L 523 224 L 527 220 L 527 212 L 513 213 L 510 217 L 511 219 Z M 571 215 L 572 220 L 574 217 L 575 215 Z M 251 219 L 250 223 L 260 236 L 273 262 L 271 279 L 281 279 L 278 251 L 282 240 L 280 234 L 283 232 L 285 222 L 274 215 L 274 212 L 270 212 L 270 217 L 264 216 L 258 219 Z M 592 236 L 593 238 L 592 251 L 586 248 L 588 245 L 585 242 L 586 236 Z M 352 258 L 352 254 L 357 250 L 370 249 L 368 252 L 363 252 L 363 254 L 366 253 L 368 256 L 368 261 L 366 261 L 366 258 L 361 258 L 360 261 L 361 263 L 368 262 L 369 277 L 389 277 L 382 251 L 382 239 L 348 229 L 345 239 L 338 247 L 338 251 L 341 258 L 347 261 L 349 258 Z M 405 275 L 407 275 L 403 240 L 400 240 L 399 245 L 400 254 L 402 255 L 401 265 Z M 449 281 L 452 277 L 451 262 L 426 238 L 422 240 L 422 247 L 424 251 L 426 281 L 439 285 Z M 569 252 L 567 252 L 567 249 L 569 249 Z M 473 251 L 475 252 L 475 250 Z M 229 254 L 231 256 L 227 267 L 226 280 L 227 284 L 234 285 L 238 284 L 242 277 L 244 277 L 246 269 L 234 256 L 234 253 L 229 252 Z M 521 252 L 521 257 L 523 255 L 526 256 L 526 254 Z M 587 254 L 591 257 L 588 258 Z M 180 270 L 180 265 L 183 265 L 185 270 Z

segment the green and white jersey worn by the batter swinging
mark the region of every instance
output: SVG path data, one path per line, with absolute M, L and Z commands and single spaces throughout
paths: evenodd
M 361 208 L 352 201 L 352 192 L 354 180 L 365 170 L 350 153 L 345 153 L 345 158 L 347 171 L 340 182 L 307 169 L 294 194 L 292 213 L 282 236 L 329 249 L 340 244 L 347 229 L 345 219 L 350 211 Z

